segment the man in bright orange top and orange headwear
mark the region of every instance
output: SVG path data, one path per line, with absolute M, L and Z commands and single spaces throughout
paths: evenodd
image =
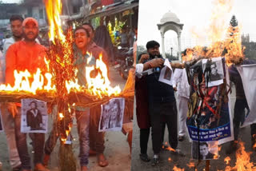
M 28 70 L 33 76 L 37 68 L 46 68 L 44 58 L 46 48 L 35 42 L 38 37 L 38 22 L 34 18 L 26 18 L 22 22 L 24 40 L 14 43 L 6 53 L 6 84 L 14 85 L 14 70 Z M 30 155 L 26 145 L 26 133 L 21 133 L 21 105 L 11 105 L 9 109 L 15 114 L 15 137 L 19 157 L 22 161 L 22 171 L 30 171 Z M 16 108 L 17 109 L 14 109 Z M 49 171 L 42 165 L 44 133 L 33 133 L 34 169 Z

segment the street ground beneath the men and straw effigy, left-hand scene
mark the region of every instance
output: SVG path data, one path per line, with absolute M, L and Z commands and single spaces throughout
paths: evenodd
M 118 72 L 110 68 L 110 81 L 111 85 L 120 85 L 120 87 L 123 89 L 126 81 L 123 80 Z M 51 120 L 50 120 L 51 123 Z M 51 124 L 49 124 L 51 125 Z M 49 129 L 51 130 L 51 129 Z M 74 129 L 72 130 L 72 135 L 74 136 L 74 144 L 73 144 L 73 150 L 74 155 L 77 157 L 78 160 L 78 133 L 77 129 L 74 126 Z M 46 138 L 48 137 L 48 134 L 46 135 Z M 30 142 L 30 138 L 28 138 L 28 142 Z M 29 146 L 29 151 L 32 153 L 31 145 Z M 59 145 L 57 145 L 54 149 L 54 153 L 52 153 L 50 157 L 50 170 L 51 171 L 58 171 L 58 148 Z M 89 158 L 89 167 L 90 170 L 94 171 L 110 171 L 110 170 L 124 170 L 128 171 L 130 170 L 130 148 L 126 141 L 126 136 L 122 132 L 107 132 L 106 133 L 106 149 L 105 149 L 106 158 L 109 161 L 109 165 L 106 168 L 101 168 L 98 166 L 97 158 L 96 157 L 90 157 Z M 10 164 L 9 164 L 9 157 L 8 157 L 8 151 L 7 151 L 7 145 L 6 145 L 6 136 L 4 133 L 0 133 L 0 161 L 2 161 L 2 170 L 3 171 L 9 171 Z M 79 165 L 79 162 L 77 162 Z M 79 170 L 79 169 L 77 169 Z

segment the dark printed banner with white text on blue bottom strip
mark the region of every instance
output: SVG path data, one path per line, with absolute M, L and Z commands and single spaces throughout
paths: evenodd
M 218 141 L 218 144 L 232 141 L 230 80 L 225 58 L 200 60 L 190 66 L 187 74 L 191 88 L 186 119 L 190 139 Z

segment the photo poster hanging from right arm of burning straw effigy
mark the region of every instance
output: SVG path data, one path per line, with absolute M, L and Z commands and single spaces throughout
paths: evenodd
M 102 104 L 101 119 L 98 132 L 122 130 L 122 120 L 125 109 L 125 98 L 111 98 Z

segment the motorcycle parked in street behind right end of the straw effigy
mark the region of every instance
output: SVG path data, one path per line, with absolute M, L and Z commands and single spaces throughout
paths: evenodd
M 119 71 L 123 79 L 127 79 L 129 70 L 134 64 L 134 48 L 118 46 L 114 68 Z

